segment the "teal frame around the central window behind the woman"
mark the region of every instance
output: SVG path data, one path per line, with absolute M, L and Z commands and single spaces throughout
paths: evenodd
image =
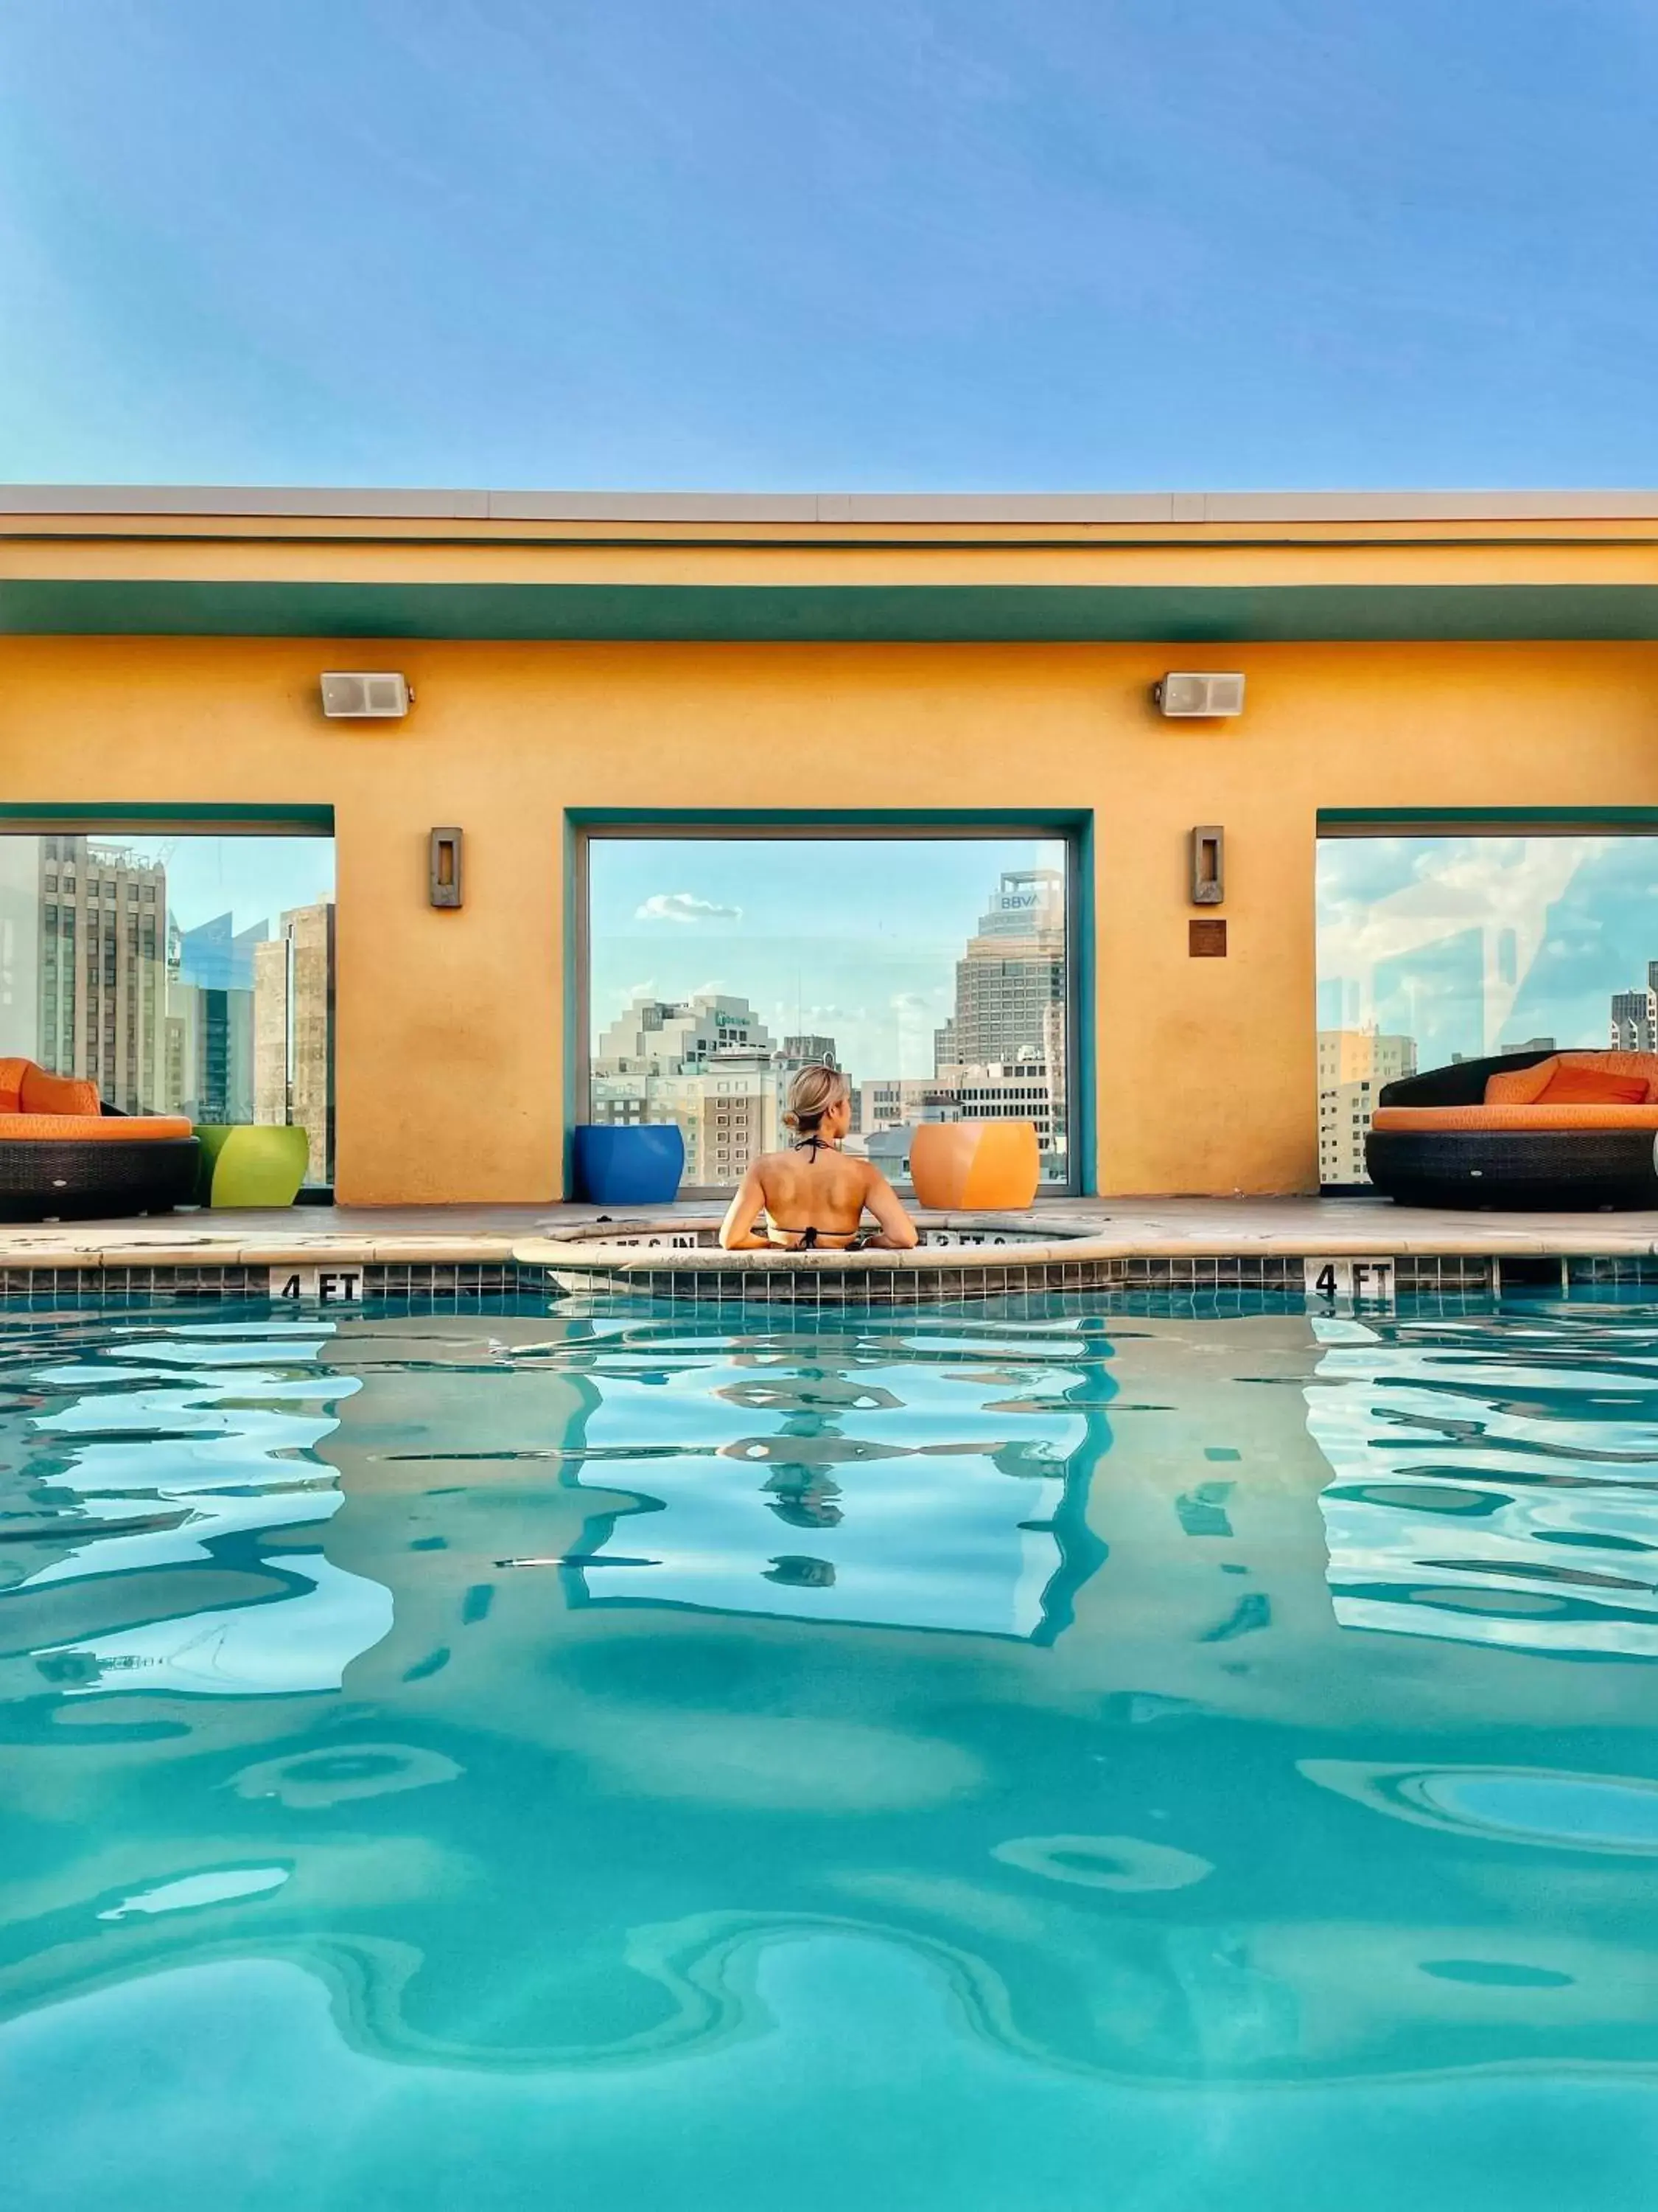
M 604 810 L 573 807 L 564 818 L 564 1188 L 577 1124 L 592 1110 L 592 876 L 595 841 L 811 843 L 842 836 L 869 843 L 995 843 L 1050 841 L 1063 847 L 1066 867 L 1066 1179 L 1043 1183 L 1039 1199 L 1092 1197 L 1094 1155 L 1094 814 L 1092 810 Z M 725 1201 L 730 1183 L 685 1183 L 683 1199 Z M 898 1186 L 913 1194 L 909 1181 Z

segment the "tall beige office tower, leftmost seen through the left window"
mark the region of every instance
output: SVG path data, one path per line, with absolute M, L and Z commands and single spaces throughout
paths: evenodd
M 166 1086 L 166 869 L 84 836 L 38 843 L 38 1024 L 29 1057 L 124 1113 Z M 22 1000 L 11 1009 L 13 1029 Z

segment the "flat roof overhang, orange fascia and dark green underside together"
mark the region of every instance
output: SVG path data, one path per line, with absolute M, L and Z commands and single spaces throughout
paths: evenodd
M 0 635 L 1654 641 L 1658 493 L 0 487 Z

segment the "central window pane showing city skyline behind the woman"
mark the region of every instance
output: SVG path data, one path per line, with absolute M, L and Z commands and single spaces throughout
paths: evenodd
M 920 1121 L 1037 1124 L 1070 1181 L 1070 845 L 1059 836 L 643 836 L 586 852 L 586 1119 L 676 1121 L 685 1183 L 783 1141 L 833 1060 L 851 1148 L 909 1177 Z

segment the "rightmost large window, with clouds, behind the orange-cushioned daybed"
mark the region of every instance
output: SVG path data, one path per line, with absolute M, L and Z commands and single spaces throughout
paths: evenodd
M 1362 1183 L 1384 1084 L 1488 1053 L 1658 1051 L 1651 836 L 1324 836 L 1318 1164 Z

